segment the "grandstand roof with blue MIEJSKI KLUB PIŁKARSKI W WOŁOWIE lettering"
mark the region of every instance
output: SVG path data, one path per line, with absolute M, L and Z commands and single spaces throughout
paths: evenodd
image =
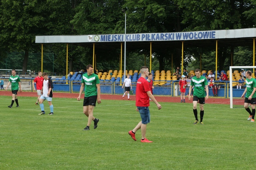
M 124 43 L 125 34 L 108 35 L 43 35 L 36 36 L 35 43 L 68 43 L 97 49 L 120 48 Z M 184 47 L 235 47 L 252 46 L 256 38 L 256 28 L 236 30 L 212 30 L 173 33 L 141 33 L 126 34 L 126 49 L 149 49 L 150 42 L 153 48 L 181 48 Z

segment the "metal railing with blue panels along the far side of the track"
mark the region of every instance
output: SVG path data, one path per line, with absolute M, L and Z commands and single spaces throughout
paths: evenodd
M 4 89 L 6 88 L 8 84 L 9 78 L 0 78 L 4 80 Z M 33 83 L 32 78 L 20 78 L 22 89 L 25 91 L 33 91 L 33 86 L 35 85 Z M 68 80 L 68 79 L 52 79 L 54 91 L 58 92 L 70 92 L 70 93 L 78 93 L 80 91 L 81 87 L 81 80 Z M 210 83 L 210 82 L 209 82 Z M 242 93 L 245 90 L 245 85 L 242 86 L 242 88 L 237 89 L 237 84 L 239 82 L 234 81 L 233 83 L 233 96 L 234 97 L 241 97 Z M 123 82 L 122 82 L 123 84 Z M 132 90 L 133 95 L 136 94 L 136 82 L 132 82 Z M 185 95 L 188 95 L 189 92 L 189 82 L 188 86 L 186 86 L 186 92 Z M 216 82 L 215 82 L 216 84 Z M 219 81 L 218 84 L 221 86 L 220 89 L 217 90 L 217 97 L 220 98 L 229 98 L 229 81 Z M 11 89 L 11 86 L 9 86 L 9 89 Z M 100 89 L 101 94 L 124 94 L 124 88 L 120 86 L 120 82 L 113 82 L 113 81 L 101 81 L 100 82 Z M 154 82 L 154 89 L 153 94 L 157 96 L 180 96 L 180 90 L 179 90 L 179 81 L 157 81 Z M 209 97 L 216 97 L 213 95 L 213 89 L 209 88 Z

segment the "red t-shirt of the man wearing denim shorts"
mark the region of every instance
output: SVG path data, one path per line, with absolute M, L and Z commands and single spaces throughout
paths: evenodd
M 136 85 L 136 106 L 148 107 L 150 106 L 147 91 L 150 91 L 149 83 L 143 77 L 140 77 Z

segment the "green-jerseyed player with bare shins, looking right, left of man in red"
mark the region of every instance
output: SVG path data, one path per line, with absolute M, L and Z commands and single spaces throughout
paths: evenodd
M 87 73 L 83 74 L 82 77 L 82 85 L 80 88 L 79 96 L 77 100 L 80 100 L 82 92 L 84 91 L 84 104 L 83 110 L 84 114 L 88 117 L 87 126 L 84 130 L 90 130 L 91 121 L 94 121 L 94 129 L 97 128 L 97 123 L 99 119 L 96 119 L 93 116 L 93 109 L 96 106 L 96 101 L 98 98 L 98 104 L 101 103 L 100 100 L 100 80 L 97 74 L 93 73 L 93 66 L 87 65 L 86 66 Z

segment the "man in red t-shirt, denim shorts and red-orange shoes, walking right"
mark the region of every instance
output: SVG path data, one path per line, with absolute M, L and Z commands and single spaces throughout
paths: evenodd
M 148 106 L 150 106 L 149 98 L 156 104 L 158 109 L 161 109 L 162 106 L 156 101 L 155 97 L 151 94 L 151 89 L 149 83 L 146 80 L 148 77 L 148 68 L 146 66 L 141 67 L 141 77 L 137 81 L 136 85 L 136 111 L 139 111 L 141 116 L 141 121 L 138 125 L 131 131 L 128 132 L 131 135 L 133 140 L 137 140 L 135 138 L 135 133 L 139 129 L 141 129 L 141 142 L 151 143 L 153 141 L 147 140 L 146 138 L 146 128 L 147 123 L 150 122 L 150 112 Z

